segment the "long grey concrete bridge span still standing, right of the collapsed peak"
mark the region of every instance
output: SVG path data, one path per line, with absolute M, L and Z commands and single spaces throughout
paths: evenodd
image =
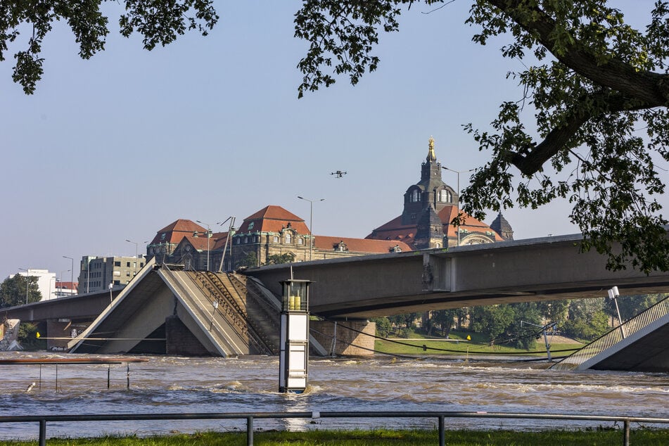
M 669 292 L 669 273 L 606 270 L 606 257 L 579 253 L 581 234 L 457 248 L 270 265 L 245 274 L 281 293 L 293 275 L 315 283 L 310 311 L 369 318 L 475 305 Z

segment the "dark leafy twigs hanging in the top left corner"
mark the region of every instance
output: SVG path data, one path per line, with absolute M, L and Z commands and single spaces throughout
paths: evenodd
M 109 19 L 101 4 L 108 0 L 40 0 L 0 2 L 0 61 L 5 60 L 9 44 L 27 30 L 23 49 L 14 54 L 12 79 L 26 94 L 32 94 L 44 74 L 42 43 L 53 23 L 68 23 L 79 44 L 79 56 L 88 59 L 105 47 Z M 112 3 L 112 2 L 109 2 Z M 186 30 L 203 35 L 217 23 L 213 0 L 125 0 L 125 13 L 118 20 L 120 33 L 130 37 L 138 32 L 144 48 L 167 45 Z

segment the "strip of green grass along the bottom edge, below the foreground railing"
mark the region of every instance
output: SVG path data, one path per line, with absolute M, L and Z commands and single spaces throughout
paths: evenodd
M 310 431 L 256 432 L 253 444 L 258 446 L 397 446 L 438 444 L 437 431 Z M 446 444 L 457 446 L 506 446 L 506 445 L 619 445 L 623 433 L 618 430 L 597 431 L 447 431 Z M 669 442 L 669 430 L 632 430 L 633 445 L 664 446 Z M 32 446 L 33 442 L 0 442 L 0 445 Z M 192 435 L 168 435 L 151 438 L 106 437 L 82 439 L 48 440 L 49 446 L 234 446 L 246 445 L 246 433 L 196 433 Z

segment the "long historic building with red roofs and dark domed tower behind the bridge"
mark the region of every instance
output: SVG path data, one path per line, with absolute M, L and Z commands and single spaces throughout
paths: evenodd
M 336 257 L 393 253 L 513 239 L 513 229 L 500 213 L 488 226 L 463 215 L 458 227 L 458 191 L 442 180 L 434 140 L 421 165 L 421 179 L 404 193 L 402 215 L 381 225 L 366 238 L 319 236 L 305 220 L 281 206 L 268 205 L 249 215 L 237 229 L 212 233 L 189 219 L 160 229 L 147 246 L 148 258 L 186 269 L 229 271 L 273 262 L 305 262 Z M 221 267 L 223 265 L 223 267 Z

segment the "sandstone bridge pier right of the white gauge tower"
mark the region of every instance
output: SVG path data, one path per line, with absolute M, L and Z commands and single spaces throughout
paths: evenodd
M 334 350 L 335 355 L 365 356 L 374 355 L 374 334 L 376 323 L 365 320 L 349 321 L 310 321 L 312 336 L 329 352 L 332 349 L 332 338 L 335 330 L 337 341 Z M 336 328 L 335 328 L 336 324 Z M 349 330 L 345 327 L 350 327 Z M 358 333 L 362 331 L 362 333 Z

